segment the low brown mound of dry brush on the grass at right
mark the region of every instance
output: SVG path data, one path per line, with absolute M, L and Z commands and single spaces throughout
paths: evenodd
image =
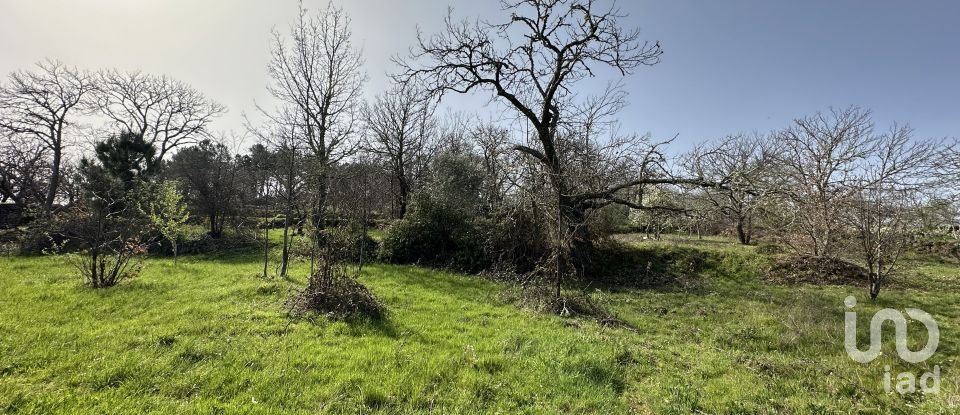
M 809 255 L 791 256 L 776 261 L 770 268 L 770 280 L 787 284 L 856 285 L 867 283 L 866 268 L 842 259 Z

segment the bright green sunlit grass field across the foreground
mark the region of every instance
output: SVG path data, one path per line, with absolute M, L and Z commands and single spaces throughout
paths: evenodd
M 669 286 L 591 289 L 628 327 L 538 314 L 507 286 L 412 266 L 372 265 L 362 282 L 381 322 L 293 321 L 302 286 L 263 280 L 256 253 L 150 259 L 137 279 L 85 288 L 58 257 L 0 258 L 0 412 L 8 413 L 957 413 L 960 267 L 910 262 L 873 304 L 862 287 L 779 286 L 768 259 L 724 239 L 639 242 L 708 264 Z M 938 352 L 907 364 L 852 361 L 843 299 L 921 308 Z M 925 341 L 910 325 L 912 349 Z M 938 394 L 883 391 L 941 367 Z

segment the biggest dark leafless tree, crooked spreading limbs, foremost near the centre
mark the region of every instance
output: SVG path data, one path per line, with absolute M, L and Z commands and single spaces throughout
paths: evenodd
M 596 145 L 600 134 L 592 127 L 621 108 L 624 97 L 616 84 L 593 100 L 578 99 L 574 89 L 600 69 L 625 76 L 656 64 L 663 52 L 659 43 L 641 41 L 638 30 L 622 28 L 624 15 L 613 5 L 567 0 L 501 5 L 509 13 L 501 23 L 456 22 L 448 16 L 443 32 L 418 36 L 410 57 L 398 61 L 403 72 L 397 79 L 423 82 L 431 95 L 441 97 L 486 90 L 532 127 L 533 139 L 514 148 L 541 164 L 553 189 L 557 249 L 571 246 L 580 269 L 590 244 L 587 211 L 610 204 L 643 208 L 642 197 L 623 195 L 643 185 L 701 183 L 661 175 L 659 146 L 645 137 L 614 137 L 613 144 Z M 605 177 L 586 180 L 584 166 Z M 604 180 L 628 170 L 629 179 Z M 558 263 L 558 295 L 563 273 Z

